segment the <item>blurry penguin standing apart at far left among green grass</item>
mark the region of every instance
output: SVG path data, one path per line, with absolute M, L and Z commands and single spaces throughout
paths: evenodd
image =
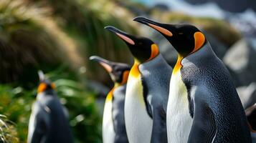
M 57 98 L 55 85 L 39 71 L 37 100 L 29 119 L 28 143 L 72 143 L 73 137 L 64 107 Z

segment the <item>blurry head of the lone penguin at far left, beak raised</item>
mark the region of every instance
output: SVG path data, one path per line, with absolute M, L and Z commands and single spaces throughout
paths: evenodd
M 52 92 L 55 89 L 55 84 L 52 83 L 49 79 L 44 77 L 44 73 L 42 71 L 38 71 L 39 74 L 39 86 L 37 87 L 37 94 L 43 92 Z

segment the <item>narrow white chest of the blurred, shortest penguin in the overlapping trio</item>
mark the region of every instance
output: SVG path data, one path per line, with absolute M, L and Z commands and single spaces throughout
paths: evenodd
M 103 112 L 103 142 L 112 143 L 115 139 L 115 132 L 112 119 L 112 100 L 106 99 Z

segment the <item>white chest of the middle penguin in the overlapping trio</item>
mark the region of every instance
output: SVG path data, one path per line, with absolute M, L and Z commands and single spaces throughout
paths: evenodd
M 125 126 L 131 143 L 151 141 L 153 121 L 148 116 L 139 77 L 129 77 L 125 94 Z

